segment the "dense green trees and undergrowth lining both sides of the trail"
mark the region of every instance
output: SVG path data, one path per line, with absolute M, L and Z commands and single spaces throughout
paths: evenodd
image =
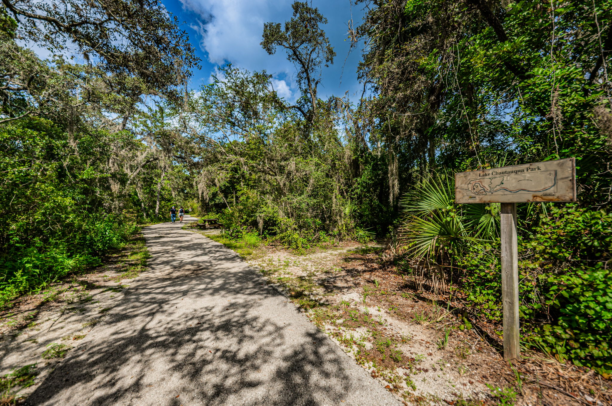
M 298 253 L 378 240 L 499 322 L 499 205 L 455 204 L 453 175 L 575 158 L 578 202 L 518 205 L 523 340 L 612 372 L 612 3 L 357 5 L 357 100 L 319 95 L 336 55 L 316 7 L 263 26 L 296 67 L 289 103 L 233 65 L 190 89 L 199 61 L 160 2 L 2 0 L 2 306 L 180 204 Z

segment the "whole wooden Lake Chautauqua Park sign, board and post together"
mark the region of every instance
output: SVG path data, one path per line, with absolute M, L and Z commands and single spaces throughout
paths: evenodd
M 520 359 L 517 203 L 573 201 L 576 201 L 574 158 L 455 174 L 455 202 L 501 203 L 504 360 Z

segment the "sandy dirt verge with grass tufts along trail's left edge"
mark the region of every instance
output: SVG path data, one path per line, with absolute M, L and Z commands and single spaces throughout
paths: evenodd
M 71 275 L 0 312 L 0 404 L 23 400 L 123 297 L 129 280 L 146 271 L 137 235 L 101 267 Z M 4 403 L 2 403 L 4 402 Z

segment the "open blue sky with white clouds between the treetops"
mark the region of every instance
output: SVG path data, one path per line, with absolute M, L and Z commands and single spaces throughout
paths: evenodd
M 210 76 L 219 65 L 230 62 L 248 70 L 266 70 L 274 76 L 273 84 L 278 95 L 294 100 L 297 89 L 294 83 L 295 68 L 286 60 L 286 54 L 278 50 L 271 56 L 264 51 L 261 33 L 264 23 L 284 23 L 291 18 L 293 10 L 290 0 L 162 0 L 171 13 L 183 22 L 198 57 L 202 59 L 201 70 L 193 72 L 192 88 L 210 82 Z M 348 90 L 351 98 L 358 98 L 362 85 L 357 81 L 357 64 L 362 46 L 353 49 L 347 56 L 349 41 L 346 40 L 348 21 L 351 15 L 354 24 L 362 22 L 362 5 L 351 5 L 351 0 L 312 0 L 312 6 L 329 21 L 323 29 L 334 46 L 337 56 L 334 65 L 323 67 L 323 82 L 319 97 L 334 94 L 342 96 Z M 344 72 L 342 67 L 344 66 Z

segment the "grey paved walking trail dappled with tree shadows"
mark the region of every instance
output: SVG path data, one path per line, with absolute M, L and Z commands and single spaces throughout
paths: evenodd
M 143 234 L 151 270 L 28 404 L 400 405 L 230 249 L 181 224 Z

